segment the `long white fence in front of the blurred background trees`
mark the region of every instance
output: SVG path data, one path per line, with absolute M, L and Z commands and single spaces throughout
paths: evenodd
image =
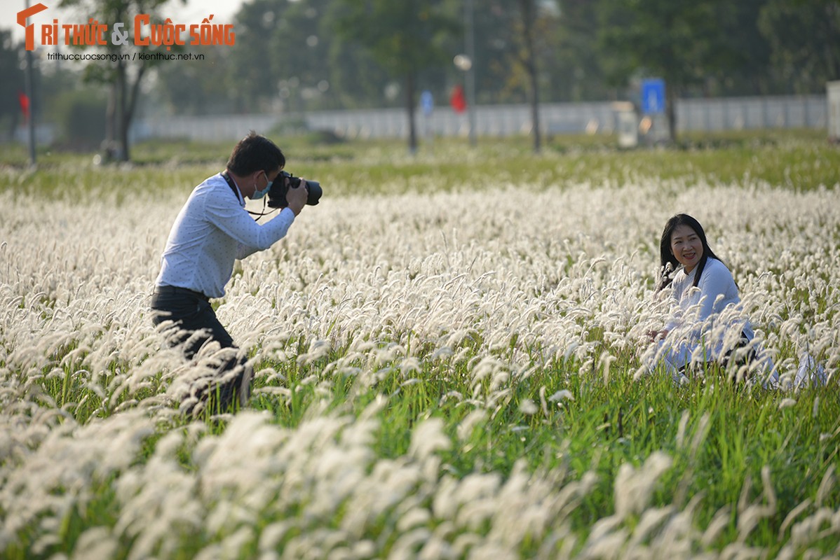
M 826 96 L 684 99 L 677 101 L 676 116 L 678 132 L 825 128 L 827 99 Z M 469 132 L 467 114 L 455 113 L 449 106 L 435 108 L 428 116 L 417 109 L 415 118 L 417 134 L 421 137 L 466 135 Z M 606 133 L 616 128 L 617 111 L 610 102 L 543 103 L 539 106 L 539 119 L 541 129 L 548 134 L 585 131 Z M 135 139 L 237 139 L 249 130 L 269 132 L 284 122 L 305 122 L 312 130 L 333 132 L 340 137 L 408 136 L 408 121 L 403 109 L 145 119 L 134 124 L 132 136 Z M 531 112 L 527 105 L 475 108 L 475 132 L 479 136 L 525 134 L 531 131 L 531 126 Z

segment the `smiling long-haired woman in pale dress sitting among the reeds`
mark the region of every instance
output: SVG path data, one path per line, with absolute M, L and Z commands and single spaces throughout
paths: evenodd
M 657 293 L 669 288 L 675 309 L 664 329 L 648 333 L 656 340 L 648 368 L 664 367 L 675 381 L 702 371 L 707 363 L 744 376 L 757 360 L 753 329 L 741 314 L 732 272 L 715 255 L 700 223 L 678 214 L 665 224 L 659 241 L 662 272 Z M 762 368 L 778 381 L 773 362 L 761 356 Z M 734 366 L 737 366 L 735 368 Z M 764 380 L 762 380 L 764 381 Z

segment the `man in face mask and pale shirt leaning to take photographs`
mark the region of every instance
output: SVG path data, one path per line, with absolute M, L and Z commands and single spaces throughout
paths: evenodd
M 230 349 L 222 353 L 213 377 L 203 386 L 193 386 L 192 394 L 185 397 L 181 408 L 187 413 L 201 412 L 196 407 L 199 403 L 210 407 L 210 412 L 224 412 L 232 405 L 244 406 L 249 397 L 251 371 L 244 352 L 237 350 L 209 300 L 223 297 L 235 260 L 268 249 L 286 236 L 307 204 L 308 187 L 301 180 L 297 188 L 293 181 L 279 185 L 291 187 L 279 204 L 284 208 L 265 224 L 257 223 L 245 210 L 246 197 L 260 199 L 274 181 L 289 180 L 288 174 L 281 173 L 285 165 L 286 158 L 275 143 L 249 132 L 234 147 L 227 169 L 192 190 L 166 241 L 151 300 L 153 322 L 166 330 L 168 343 L 179 346 L 187 360 L 210 340 Z

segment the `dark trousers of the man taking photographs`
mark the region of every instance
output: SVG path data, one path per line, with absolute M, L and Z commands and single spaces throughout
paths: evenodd
M 151 301 L 152 322 L 164 329 L 167 344 L 179 347 L 187 360 L 192 360 L 208 341 L 218 342 L 222 348 L 236 350 L 234 340 L 219 323 L 216 312 L 202 293 L 186 288 L 158 286 Z M 170 322 L 171 323 L 167 323 Z M 225 412 L 231 405 L 244 404 L 248 396 L 250 376 L 246 375 L 245 356 L 241 352 L 224 353 L 218 363 L 214 379 L 198 384 L 185 398 L 187 413 L 200 412 L 198 403 L 210 407 L 211 412 Z

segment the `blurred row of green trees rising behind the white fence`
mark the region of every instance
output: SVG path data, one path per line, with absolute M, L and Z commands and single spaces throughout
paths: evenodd
M 165 13 L 166 0 L 60 0 L 79 21 Z M 685 96 L 806 94 L 840 79 L 840 0 L 472 0 L 472 72 L 479 104 L 602 101 L 638 96 L 638 79 L 666 82 L 670 124 Z M 233 47 L 197 48 L 193 64 L 97 60 L 88 83 L 108 88 L 108 139 L 128 158 L 140 81 L 178 114 L 402 106 L 416 142 L 416 93 L 438 106 L 464 75 L 465 0 L 249 0 Z M 533 15 L 523 18 L 522 8 Z M 160 19 L 157 19 L 160 22 Z M 19 122 L 20 47 L 0 35 L 0 127 Z M 111 49 L 112 46 L 107 47 Z M 127 47 L 128 48 L 128 47 Z M 144 48 L 145 52 L 154 52 Z M 47 70 L 47 69 L 45 69 Z M 44 81 L 44 89 L 39 84 Z M 38 80 L 34 100 L 50 80 Z M 398 95 L 394 96 L 395 92 Z M 536 95 L 538 92 L 538 95 Z M 49 96 L 47 96 L 49 97 Z M 44 100 L 45 109 L 49 101 Z M 45 110 L 45 117 L 50 111 Z

